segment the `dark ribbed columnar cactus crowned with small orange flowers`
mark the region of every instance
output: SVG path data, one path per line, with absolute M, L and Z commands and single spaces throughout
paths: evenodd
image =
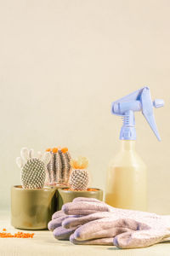
M 71 155 L 68 148 L 48 148 L 51 160 L 47 166 L 46 184 L 47 185 L 68 185 L 71 174 Z

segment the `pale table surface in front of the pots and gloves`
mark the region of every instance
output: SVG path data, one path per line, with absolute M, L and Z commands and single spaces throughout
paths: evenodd
M 0 212 L 0 232 L 6 228 L 14 234 L 21 231 L 10 225 L 9 212 Z M 151 247 L 139 249 L 119 249 L 108 246 L 73 245 L 70 241 L 54 239 L 48 230 L 26 232 L 35 233 L 31 238 L 0 238 L 0 256 L 170 256 L 170 242 L 164 242 Z

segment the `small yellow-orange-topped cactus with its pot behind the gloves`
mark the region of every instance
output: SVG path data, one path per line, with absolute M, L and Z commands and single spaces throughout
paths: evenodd
M 72 167 L 69 178 L 69 187 L 59 189 L 59 210 L 66 202 L 71 202 L 76 197 L 94 197 L 103 200 L 103 191 L 101 189 L 88 188 L 89 173 L 88 159 L 79 157 L 77 160 L 71 160 Z

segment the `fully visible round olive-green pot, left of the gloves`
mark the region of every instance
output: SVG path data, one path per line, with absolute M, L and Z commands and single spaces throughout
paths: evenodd
M 23 230 L 45 230 L 57 210 L 57 188 L 11 188 L 11 224 Z

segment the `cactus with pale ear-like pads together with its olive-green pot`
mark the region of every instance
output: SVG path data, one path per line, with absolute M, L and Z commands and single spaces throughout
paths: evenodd
M 43 230 L 48 228 L 48 221 L 56 211 L 56 189 L 44 187 L 47 165 L 51 154 L 22 148 L 16 159 L 20 167 L 21 185 L 11 189 L 11 224 L 25 230 Z

